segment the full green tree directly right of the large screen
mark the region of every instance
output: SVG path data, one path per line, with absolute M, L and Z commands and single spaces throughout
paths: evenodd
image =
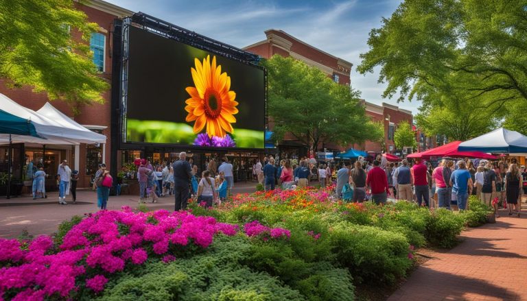
M 273 56 L 264 65 L 274 139 L 290 133 L 309 149 L 317 149 L 319 143 L 348 145 L 378 139 L 358 91 L 293 58 Z

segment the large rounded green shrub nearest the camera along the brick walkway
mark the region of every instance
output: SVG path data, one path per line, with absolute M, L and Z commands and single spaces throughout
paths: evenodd
M 358 282 L 393 283 L 412 265 L 403 234 L 342 222 L 333 225 L 329 237 L 336 260 Z

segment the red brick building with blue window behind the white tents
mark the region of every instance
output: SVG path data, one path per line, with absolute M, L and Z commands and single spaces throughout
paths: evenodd
M 112 57 L 110 43 L 113 32 L 113 21 L 116 18 L 124 18 L 133 14 L 130 10 L 120 8 L 117 5 L 107 3 L 102 0 L 90 0 L 86 2 L 75 3 L 78 10 L 82 10 L 88 16 L 90 22 L 99 25 L 98 32 L 91 35 L 90 47 L 94 52 L 94 62 L 101 72 L 100 76 L 108 80 L 111 79 L 112 72 Z M 80 40 L 80 34 L 75 30 L 71 30 L 73 38 Z M 49 99 L 46 93 L 34 93 L 32 87 L 25 86 L 23 88 L 8 88 L 5 81 L 0 80 L 0 93 L 10 97 L 18 104 L 38 110 Z M 79 170 L 78 186 L 89 186 L 91 176 L 95 173 L 97 165 L 100 162 L 108 164 L 110 153 L 110 89 L 103 93 L 105 99 L 104 104 L 92 104 L 89 106 L 78 106 L 76 109 L 80 112 L 78 115 L 73 114 L 73 110 L 65 102 L 55 100 L 50 103 L 65 115 L 71 117 L 85 128 L 89 128 L 95 132 L 106 135 L 106 144 L 102 145 L 86 145 L 81 144 L 73 147 L 71 145 L 32 145 L 25 143 L 25 145 L 14 145 L 14 162 L 13 171 L 14 178 L 23 178 L 23 166 L 29 162 L 44 162 L 46 172 L 49 173 L 47 185 L 52 186 L 54 175 L 57 172 L 58 164 L 61 160 L 69 160 L 72 169 Z M 1 162 L 6 162 L 5 154 L 7 147 L 2 147 Z

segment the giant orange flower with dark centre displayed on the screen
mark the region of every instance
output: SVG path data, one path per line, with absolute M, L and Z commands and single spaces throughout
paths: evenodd
M 190 98 L 185 101 L 185 110 L 189 113 L 186 121 L 194 122 L 194 134 L 207 126 L 209 137 L 224 137 L 226 132 L 234 132 L 231 123 L 235 123 L 238 105 L 236 93 L 231 90 L 231 77 L 222 73 L 222 66 L 216 66 L 216 57 L 203 59 L 203 63 L 194 59 L 196 69 L 191 68 L 194 86 L 185 90 Z

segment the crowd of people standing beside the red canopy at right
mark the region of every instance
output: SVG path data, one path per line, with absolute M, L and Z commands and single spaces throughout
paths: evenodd
M 508 208 L 508 215 L 519 216 L 522 195 L 527 193 L 527 170 L 523 165 L 518 167 L 514 158 L 510 164 L 504 160 L 445 158 L 433 168 L 430 162 L 420 158 L 410 164 L 408 160 L 388 162 L 378 156 L 371 165 L 364 158 L 359 158 L 353 167 L 350 162 L 344 162 L 337 171 L 337 197 L 342 197 L 346 184 L 353 187 L 355 202 L 373 200 L 380 204 L 391 197 L 430 208 L 451 209 L 456 204 L 459 210 L 465 210 L 469 195 L 476 195 L 494 208 L 497 217 L 499 204 Z

